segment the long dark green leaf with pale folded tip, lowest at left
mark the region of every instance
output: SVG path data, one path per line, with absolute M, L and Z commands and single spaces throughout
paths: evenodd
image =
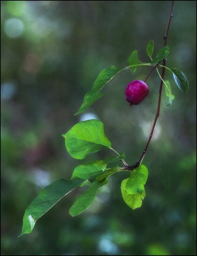
M 39 195 L 31 202 L 25 210 L 23 217 L 22 233 L 31 233 L 35 222 L 43 216 L 54 204 L 56 204 L 62 197 L 66 196 L 73 189 L 80 187 L 85 180 L 75 178 L 72 180 L 56 180 L 50 185 L 43 188 Z M 18 236 L 19 237 L 19 236 Z

